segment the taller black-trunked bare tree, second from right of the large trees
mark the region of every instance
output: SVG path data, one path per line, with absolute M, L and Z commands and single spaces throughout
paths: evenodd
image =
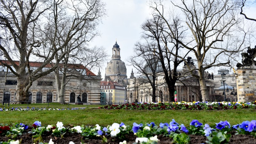
M 155 13 L 153 13 L 153 15 L 155 15 Z M 185 37 L 186 29 L 181 25 L 179 18 L 173 16 L 169 22 L 175 38 L 182 41 Z M 183 46 L 179 41 L 170 38 L 168 35 L 168 27 L 161 17 L 155 15 L 152 19 L 148 19 L 142 25 L 142 29 L 144 33 L 143 37 L 147 38 L 148 41 L 156 43 L 157 51 L 155 53 L 163 68 L 165 81 L 169 91 L 169 100 L 174 101 L 174 87 L 179 78 L 177 68 L 183 62 L 188 52 L 185 54 L 180 52 L 180 49 L 182 49 Z M 179 58 L 178 55 L 182 58 Z

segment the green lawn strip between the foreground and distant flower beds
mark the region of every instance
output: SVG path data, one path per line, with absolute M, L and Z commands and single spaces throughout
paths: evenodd
M 9 111 L 0 112 L 0 123 L 24 123 L 32 125 L 35 121 L 41 121 L 42 125 L 95 125 L 107 126 L 113 123 L 132 125 L 136 123 L 155 122 L 169 123 L 172 119 L 179 124 L 189 125 L 193 119 L 199 122 L 215 126 L 215 123 L 227 120 L 231 125 L 243 121 L 255 120 L 256 109 L 235 110 L 124 110 L 124 109 L 98 109 L 86 108 L 84 110 L 56 110 L 56 111 Z

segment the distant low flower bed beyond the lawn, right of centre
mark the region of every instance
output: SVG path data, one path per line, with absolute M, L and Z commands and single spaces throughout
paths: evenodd
M 237 109 L 256 108 L 255 102 L 151 102 L 132 103 L 123 105 L 107 105 L 99 107 L 105 109 L 191 109 L 191 110 L 216 110 L 216 109 Z

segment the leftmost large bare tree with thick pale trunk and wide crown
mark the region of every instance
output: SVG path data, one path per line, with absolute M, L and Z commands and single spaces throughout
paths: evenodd
M 1 64 L 17 76 L 15 101 L 24 101 L 32 82 L 58 67 L 68 44 L 79 43 L 87 21 L 105 15 L 104 6 L 101 0 L 1 0 Z M 42 65 L 30 68 L 33 60 Z

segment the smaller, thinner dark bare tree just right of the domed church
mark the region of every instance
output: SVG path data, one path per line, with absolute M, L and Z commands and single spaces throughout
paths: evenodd
M 139 85 L 150 84 L 152 88 L 150 95 L 152 96 L 153 102 L 156 101 L 157 87 L 164 84 L 157 83 L 157 77 L 163 75 L 163 70 L 161 62 L 156 56 L 155 47 L 156 44 L 148 43 L 147 40 L 144 44 L 138 42 L 135 44 L 134 55 L 127 60 L 129 62 L 128 65 L 136 68 L 137 73 L 142 77 L 139 79 Z

